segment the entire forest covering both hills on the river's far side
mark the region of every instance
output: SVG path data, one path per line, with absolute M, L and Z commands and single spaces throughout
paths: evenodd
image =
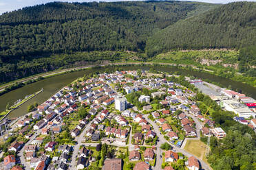
M 148 60 L 173 49 L 223 47 L 242 48 L 239 71 L 253 76 L 255 9 L 253 2 L 125 1 L 54 2 L 6 12 L 0 15 L 0 83 L 120 60 L 131 51 L 138 54 L 133 60 Z

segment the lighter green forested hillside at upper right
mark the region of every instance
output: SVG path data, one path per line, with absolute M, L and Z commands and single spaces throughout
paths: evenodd
M 147 54 L 170 49 L 239 49 L 256 45 L 256 3 L 222 5 L 198 16 L 178 21 L 151 36 Z

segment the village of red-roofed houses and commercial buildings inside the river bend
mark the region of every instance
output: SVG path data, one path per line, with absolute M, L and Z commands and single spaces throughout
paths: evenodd
M 184 146 L 226 132 L 171 76 L 138 70 L 79 78 L 15 123 L 3 169 L 211 169 Z M 204 88 L 202 80 L 188 84 Z M 253 98 L 226 89 L 208 95 L 255 130 Z

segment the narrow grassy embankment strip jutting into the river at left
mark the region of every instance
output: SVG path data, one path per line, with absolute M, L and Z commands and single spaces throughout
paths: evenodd
M 17 104 L 14 104 L 14 105 L 10 106 L 10 108 L 9 108 L 8 110 L 5 110 L 5 111 L 1 112 L 1 113 L 0 113 L 0 118 L 1 118 L 0 121 L 3 121 L 3 119 L 5 119 L 6 117 L 8 117 L 8 115 L 10 114 L 10 112 L 12 112 L 12 110 L 15 110 L 15 109 L 17 109 L 19 106 L 25 104 L 25 102 L 29 101 L 30 99 L 32 99 L 33 97 L 35 97 L 36 95 L 38 95 L 39 93 L 41 93 L 42 91 L 43 91 L 43 88 L 42 88 L 40 91 L 38 91 L 38 92 L 36 92 L 36 93 L 34 93 L 34 94 L 32 94 L 32 95 L 28 95 L 28 97 L 25 97 L 25 99 L 23 99 L 23 100 L 17 102 Z

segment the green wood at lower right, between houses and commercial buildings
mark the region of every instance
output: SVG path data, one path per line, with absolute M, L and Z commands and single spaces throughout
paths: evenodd
M 222 127 L 226 137 L 221 141 L 211 137 L 209 163 L 213 169 L 250 170 L 256 167 L 256 135 L 253 129 L 233 120 L 233 112 L 224 111 L 209 96 L 198 93 L 196 99 L 213 107 L 211 114 L 216 126 Z M 207 143 L 207 138 L 202 137 Z

